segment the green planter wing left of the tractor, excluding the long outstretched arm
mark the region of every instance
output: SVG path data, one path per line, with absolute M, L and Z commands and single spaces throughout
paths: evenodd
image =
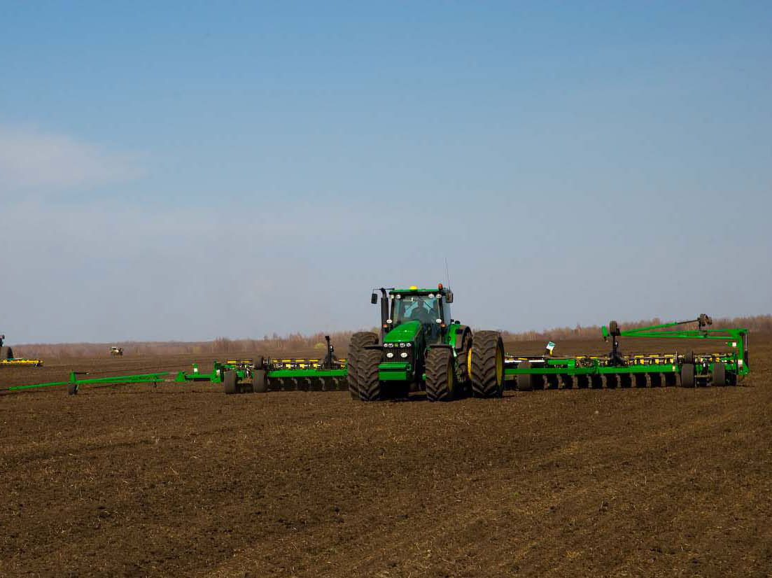
M 346 360 L 335 357 L 330 336 L 327 355 L 321 359 L 272 359 L 215 361 L 212 372 L 205 374 L 193 365 L 189 374 L 179 372 L 175 381 L 208 381 L 222 384 L 226 394 L 245 392 L 264 393 L 268 390 L 330 391 L 346 389 Z

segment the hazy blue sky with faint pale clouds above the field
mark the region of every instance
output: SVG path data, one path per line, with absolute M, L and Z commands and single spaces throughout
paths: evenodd
M 0 2 L 0 332 L 772 312 L 770 2 Z

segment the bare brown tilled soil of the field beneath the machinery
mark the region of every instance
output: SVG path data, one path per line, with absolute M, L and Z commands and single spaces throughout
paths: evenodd
M 751 344 L 742 387 L 6 394 L 0 576 L 772 576 L 772 337 Z M 0 385 L 190 362 L 2 368 Z

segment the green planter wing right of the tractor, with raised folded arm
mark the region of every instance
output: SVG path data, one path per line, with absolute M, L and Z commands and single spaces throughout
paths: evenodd
M 689 330 L 683 326 L 695 325 Z M 663 323 L 621 331 L 616 321 L 601 328 L 604 340 L 611 340 L 607 356 L 537 357 L 507 356 L 504 370 L 518 390 L 547 387 L 695 387 L 712 384 L 736 385 L 747 376 L 748 330 L 709 330 L 713 319 L 703 314 L 696 319 Z M 709 340 L 723 342 L 730 350 L 723 353 L 648 353 L 625 355 L 619 350 L 619 337 L 658 340 Z

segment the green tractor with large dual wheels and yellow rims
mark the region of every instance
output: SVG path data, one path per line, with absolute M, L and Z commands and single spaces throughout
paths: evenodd
M 496 331 L 477 331 L 452 319 L 453 292 L 380 289 L 381 335 L 351 336 L 348 387 L 351 397 L 378 401 L 426 392 L 429 401 L 501 397 L 504 346 Z M 378 289 L 371 303 L 378 303 Z

